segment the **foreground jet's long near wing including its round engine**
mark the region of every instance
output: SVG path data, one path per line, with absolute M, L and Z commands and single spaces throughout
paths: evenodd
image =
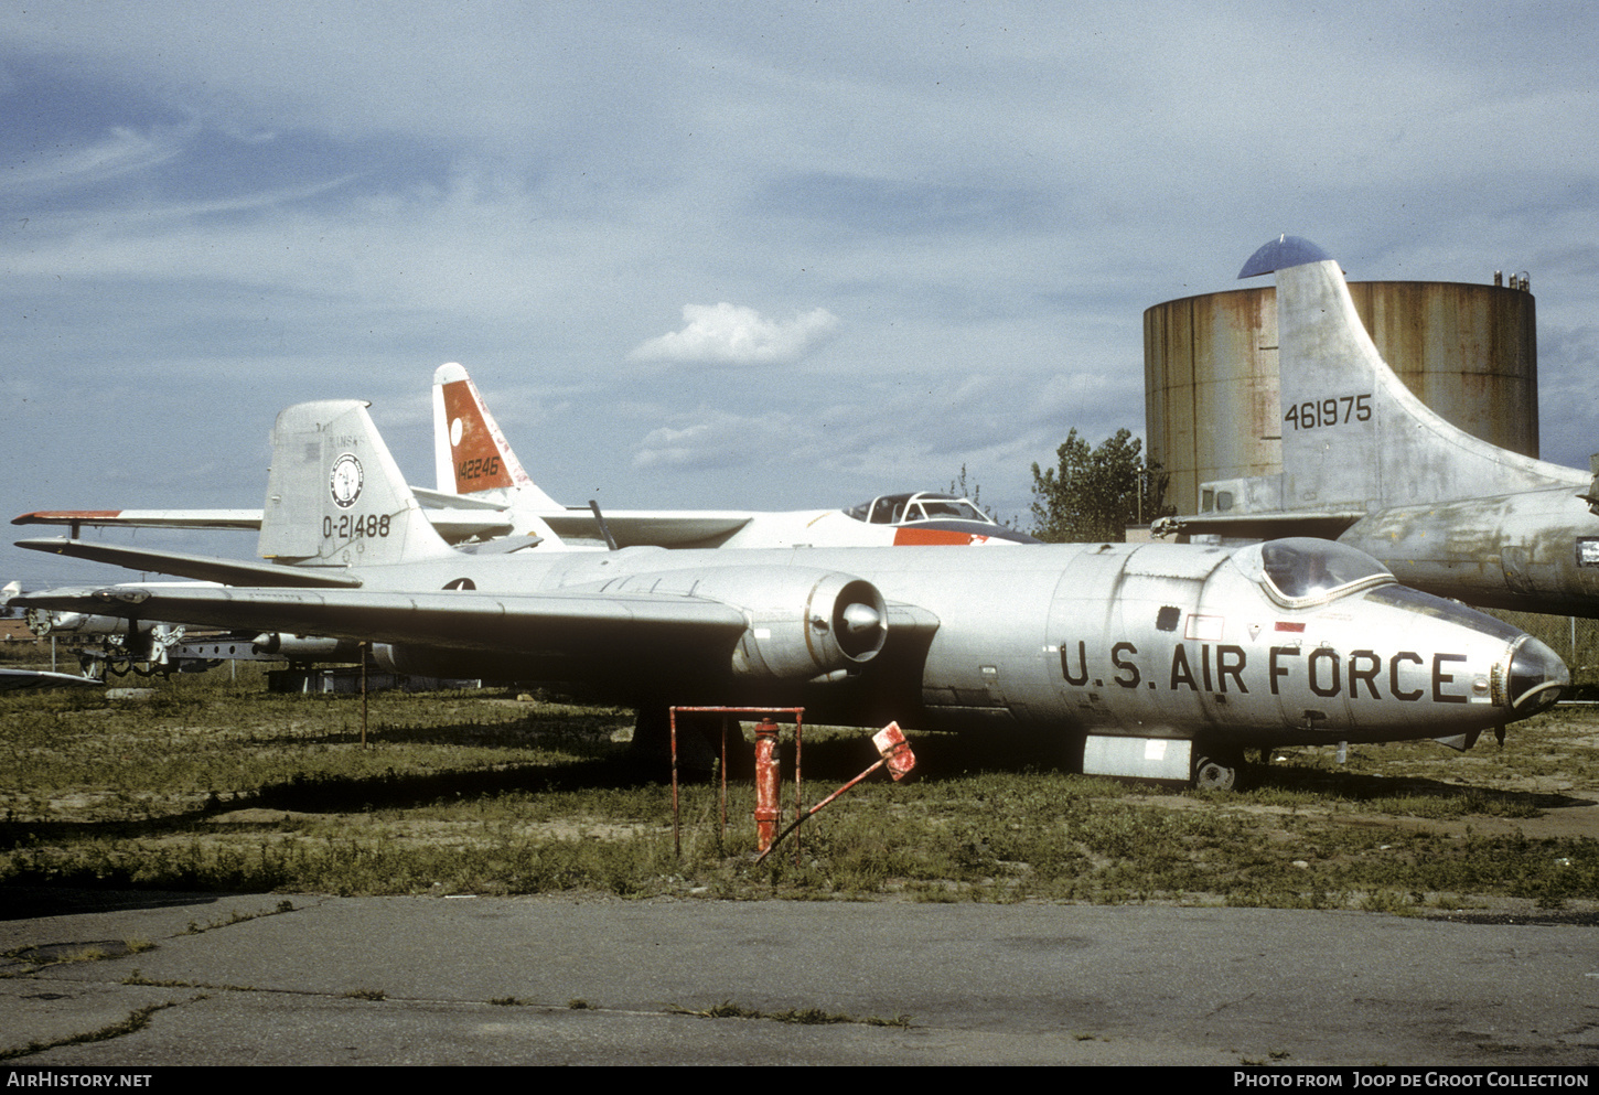
M 453 676 L 472 675 L 465 667 L 497 667 L 513 678 L 609 678 L 624 686 L 728 673 L 800 684 L 870 660 L 884 649 L 887 635 L 895 636 L 900 662 L 915 663 L 940 627 L 935 614 L 913 604 L 886 606 L 875 588 L 862 590 L 859 579 L 831 572 L 708 567 L 678 572 L 678 580 L 662 574 L 635 577 L 644 588 L 616 588 L 616 579 L 537 593 L 115 585 L 27 593 L 13 604 L 365 639 L 390 646 L 397 662 L 464 667 L 446 673 Z M 782 579 L 793 590 L 809 591 L 798 617 L 772 619 L 780 612 L 736 603 L 753 598 L 763 606 L 771 599 L 771 582 Z M 707 593 L 707 587 L 721 591 Z M 665 591 L 670 588 L 688 591 Z M 820 601 L 831 603 L 828 625 L 812 615 Z

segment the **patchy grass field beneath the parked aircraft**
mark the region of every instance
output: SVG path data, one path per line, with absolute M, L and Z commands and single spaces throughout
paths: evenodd
M 724 841 L 715 788 L 684 788 L 675 854 L 670 786 L 628 755 L 625 710 L 374 694 L 363 747 L 360 697 L 267 694 L 254 667 L 139 683 L 138 700 L 0 697 L 5 887 L 1599 910 L 1586 708 L 1465 756 L 1279 750 L 1230 794 L 1065 774 L 1046 743 L 913 735 L 910 780 L 875 775 L 755 865 L 747 780 Z M 807 727 L 807 801 L 873 759 L 862 731 Z

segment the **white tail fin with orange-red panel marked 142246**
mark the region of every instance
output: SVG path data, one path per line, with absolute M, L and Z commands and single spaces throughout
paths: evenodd
M 433 468 L 448 494 L 496 492 L 496 500 L 526 510 L 560 510 L 521 468 L 478 385 L 456 363 L 433 372 Z

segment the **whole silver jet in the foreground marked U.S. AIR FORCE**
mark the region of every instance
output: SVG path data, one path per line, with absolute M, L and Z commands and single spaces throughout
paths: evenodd
M 245 587 L 26 606 L 369 639 L 398 671 L 580 683 L 640 707 L 641 727 L 672 703 L 803 703 L 846 726 L 1033 731 L 1087 772 L 1206 786 L 1231 786 L 1247 747 L 1465 748 L 1569 683 L 1535 638 L 1314 539 L 469 555 L 429 524 L 358 401 L 278 416 L 272 563 L 19 547 Z

